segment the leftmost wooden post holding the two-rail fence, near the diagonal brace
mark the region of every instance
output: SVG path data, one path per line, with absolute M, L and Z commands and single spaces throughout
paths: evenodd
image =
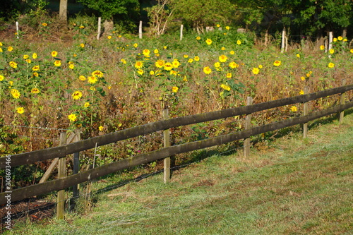
M 66 145 L 66 132 L 60 133 L 60 145 Z M 59 157 L 58 179 L 66 176 L 66 156 Z M 56 218 L 64 219 L 65 212 L 65 189 L 58 191 L 56 203 Z

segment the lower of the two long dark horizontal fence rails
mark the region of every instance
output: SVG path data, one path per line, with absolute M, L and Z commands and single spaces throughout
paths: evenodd
M 152 162 L 157 159 L 170 157 L 172 155 L 177 155 L 184 152 L 190 152 L 193 150 L 200 150 L 200 149 L 203 149 L 206 147 L 212 147 L 215 145 L 221 145 L 224 143 L 232 142 L 234 140 L 241 140 L 244 138 L 248 138 L 252 135 L 258 135 L 268 131 L 275 131 L 281 128 L 294 126 L 300 123 L 306 123 L 308 121 L 319 119 L 329 114 L 335 114 L 337 112 L 341 112 L 351 107 L 353 107 L 353 102 L 348 102 L 347 104 L 341 104 L 336 107 L 324 109 L 319 112 L 313 112 L 305 116 L 299 116 L 293 119 L 286 119 L 285 121 L 269 123 L 263 126 L 257 126 L 254 128 L 246 129 L 244 131 L 229 133 L 227 135 L 220 135 L 206 140 L 198 140 L 191 143 L 173 145 L 171 147 L 164 147 L 160 150 L 155 150 L 145 154 L 136 155 L 134 157 L 121 159 L 117 162 L 105 164 L 101 167 L 96 167 L 94 169 L 89 169 L 88 171 L 83 171 L 78 174 L 66 176 L 65 178 L 62 178 L 62 179 L 55 179 L 53 181 L 47 181 L 44 183 L 38 183 L 36 185 L 28 186 L 25 188 L 15 189 L 11 192 L 11 201 L 14 202 L 25 198 L 30 198 L 35 195 L 41 195 L 52 191 L 59 191 L 64 188 L 77 185 L 78 183 L 83 183 L 90 179 L 97 179 L 100 176 L 105 176 L 107 174 L 111 174 L 116 171 L 128 169 L 130 167 L 135 167 L 135 166 L 138 166 L 139 164 Z M 6 192 L 0 193 L 0 205 L 6 203 L 6 198 L 5 198 L 6 194 L 7 194 Z

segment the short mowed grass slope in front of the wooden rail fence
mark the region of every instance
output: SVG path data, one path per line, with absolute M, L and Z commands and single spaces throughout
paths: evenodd
M 9 234 L 352 234 L 353 114 L 96 195 L 87 215 Z

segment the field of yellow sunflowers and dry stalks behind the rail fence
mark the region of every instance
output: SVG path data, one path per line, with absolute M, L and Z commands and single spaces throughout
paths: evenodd
M 47 27 L 47 25 L 42 25 Z M 78 27 L 84 30 L 85 26 Z M 309 40 L 280 53 L 251 33 L 220 28 L 158 39 L 110 32 L 100 40 L 0 41 L 0 153 L 16 154 L 58 145 L 59 132 L 80 128 L 82 138 L 171 117 L 212 112 L 335 88 L 352 83 L 353 47 L 337 37 L 326 50 Z M 348 94 L 347 99 L 352 98 Z M 312 102 L 329 107 L 335 97 Z M 299 116 L 301 104 L 261 112 L 253 125 Z M 243 126 L 242 117 L 173 130 L 174 144 Z M 151 141 L 153 140 L 153 141 Z M 100 150 L 101 164 L 162 145 L 158 133 Z M 114 157 L 107 157 L 114 153 Z M 88 157 L 87 154 L 86 157 Z M 89 158 L 89 157 L 88 157 Z M 98 162 L 99 164 L 99 162 Z

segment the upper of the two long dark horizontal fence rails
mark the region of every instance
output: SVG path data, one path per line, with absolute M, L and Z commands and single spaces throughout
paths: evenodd
M 265 109 L 282 107 L 288 104 L 308 102 L 311 100 L 316 100 L 321 97 L 327 97 L 330 95 L 336 95 L 343 92 L 347 92 L 349 90 L 353 90 L 353 84 L 342 86 L 339 88 L 323 90 L 323 91 L 319 91 L 319 92 L 315 92 L 307 95 L 288 97 L 280 100 L 273 100 L 270 102 L 263 102 L 260 104 L 253 104 L 253 105 L 244 106 L 244 107 L 224 109 L 220 111 L 208 112 L 203 114 L 195 114 L 191 116 L 177 117 L 174 119 L 168 119 L 163 121 L 155 121 L 142 126 L 136 126 L 122 131 L 116 131 L 113 133 L 108 133 L 106 135 L 100 135 L 87 140 L 80 140 L 76 143 L 71 143 L 64 146 L 51 147 L 44 150 L 37 150 L 33 152 L 25 152 L 18 155 L 13 155 L 11 156 L 11 167 L 20 166 L 23 164 L 32 164 L 35 162 L 40 162 L 47 159 L 53 159 L 56 157 L 63 157 L 66 155 L 73 154 L 75 152 L 89 150 L 96 146 L 107 145 L 110 143 L 115 143 L 119 140 L 126 140 L 128 138 L 133 138 L 139 135 L 146 135 L 149 133 L 162 131 L 162 130 L 174 128 L 177 126 L 186 126 L 186 125 L 201 123 L 205 121 L 225 119 L 231 116 L 251 114 L 253 112 L 259 112 Z M 5 167 L 6 167 L 6 158 L 0 157 L 0 169 L 5 169 Z

